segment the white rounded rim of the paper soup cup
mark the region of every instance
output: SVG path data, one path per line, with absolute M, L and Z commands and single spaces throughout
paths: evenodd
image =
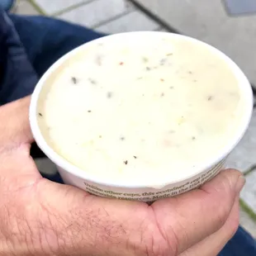
M 241 90 L 241 93 L 244 94 L 244 113 L 241 115 L 241 121 L 239 123 L 239 129 L 236 129 L 234 136 L 230 137 L 229 143 L 225 145 L 222 149 L 219 150 L 218 154 L 213 155 L 211 157 L 211 161 L 208 162 L 202 162 L 202 164 L 198 165 L 198 168 L 192 169 L 191 172 L 183 172 L 183 175 L 181 174 L 179 178 L 175 178 L 171 181 L 168 181 L 168 178 L 164 178 L 163 181 L 160 183 L 155 184 L 149 184 L 144 181 L 144 183 L 139 183 L 138 180 L 135 179 L 132 183 L 126 182 L 126 181 L 111 181 L 106 178 L 101 178 L 96 175 L 93 175 L 92 173 L 87 173 L 82 168 L 78 168 L 77 166 L 69 163 L 68 160 L 61 157 L 59 154 L 55 152 L 54 149 L 51 149 L 50 146 L 45 141 L 43 135 L 40 132 L 40 127 L 37 122 L 37 101 L 40 97 L 41 89 L 43 88 L 45 82 L 48 78 L 50 78 L 51 74 L 55 72 L 56 69 L 58 69 L 62 64 L 64 64 L 69 58 L 71 58 L 73 55 L 76 55 L 78 51 L 86 49 L 88 46 L 92 44 L 98 44 L 102 41 L 106 40 L 118 40 L 119 38 L 121 40 L 125 40 L 126 37 L 127 40 L 130 40 L 132 37 L 136 37 L 138 39 L 138 36 L 164 36 L 164 37 L 170 37 L 170 38 L 182 38 L 185 40 L 189 40 L 191 42 L 195 42 L 198 44 L 205 45 L 209 48 L 209 50 L 216 53 L 216 55 L 219 55 L 221 59 L 224 59 L 226 64 L 230 66 L 230 69 L 235 73 L 236 77 L 239 80 L 239 87 L 241 88 L 243 86 L 243 90 Z M 253 99 L 253 92 L 252 88 L 250 86 L 249 80 L 244 75 L 243 71 L 239 69 L 238 65 L 235 64 L 235 62 L 230 59 L 227 55 L 222 53 L 220 50 L 217 50 L 215 47 L 206 44 L 205 42 L 201 40 L 194 39 L 190 36 L 183 36 L 179 34 L 173 34 L 168 32 L 161 32 L 161 31 L 135 31 L 135 32 L 126 32 L 126 33 L 119 33 L 111 36 L 103 36 L 101 38 L 98 38 L 96 40 L 89 41 L 88 43 L 85 43 L 83 45 L 78 46 L 74 50 L 69 51 L 66 55 L 62 56 L 60 59 L 58 59 L 55 64 L 52 64 L 50 68 L 44 73 L 44 75 L 40 78 L 39 82 L 36 84 L 36 88 L 34 92 L 31 95 L 31 105 L 30 105 L 30 111 L 29 111 L 29 119 L 31 124 L 31 131 L 32 135 L 34 136 L 34 139 L 36 140 L 37 145 L 40 147 L 40 149 L 45 153 L 45 155 L 54 162 L 59 168 L 62 168 L 65 172 L 76 176 L 78 178 L 82 178 L 85 181 L 101 184 L 103 186 L 108 187 L 126 187 L 126 188 L 143 188 L 143 187 L 154 187 L 154 188 L 161 188 L 165 187 L 167 185 L 175 185 L 178 183 L 182 183 L 187 181 L 188 179 L 191 179 L 193 177 L 196 177 L 200 173 L 204 173 L 206 170 L 212 168 L 216 164 L 218 164 L 222 159 L 225 159 L 225 157 L 230 154 L 230 152 L 235 148 L 235 146 L 239 143 L 239 140 L 242 139 L 244 136 L 245 131 L 247 130 L 249 126 L 249 121 L 252 116 L 253 112 L 253 105 L 254 105 L 254 99 Z M 184 174 L 189 173 L 189 174 Z

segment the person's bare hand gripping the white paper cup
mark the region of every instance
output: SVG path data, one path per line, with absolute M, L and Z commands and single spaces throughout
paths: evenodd
M 29 102 L 0 107 L 0 255 L 216 256 L 235 234 L 244 185 L 235 170 L 151 206 L 42 178 Z

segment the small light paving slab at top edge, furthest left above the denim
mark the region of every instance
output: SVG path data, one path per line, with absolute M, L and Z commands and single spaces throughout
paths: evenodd
M 48 15 L 55 12 L 61 12 L 66 8 L 89 1 L 92 0 L 34 0 L 34 2 Z

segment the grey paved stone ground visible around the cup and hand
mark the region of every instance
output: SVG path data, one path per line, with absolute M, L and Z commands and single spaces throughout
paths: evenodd
M 230 55 L 256 84 L 256 14 L 229 16 L 221 0 L 135 0 L 164 25 L 205 40 Z M 245 1 L 249 2 L 249 0 Z M 246 9 L 244 7 L 244 9 Z M 244 12 L 243 9 L 243 12 Z M 12 12 L 57 17 L 97 31 L 168 31 L 128 0 L 20 0 Z M 235 7 L 235 12 L 239 8 Z M 55 172 L 47 159 L 41 172 Z M 240 223 L 256 238 L 256 110 L 244 139 L 230 155 L 230 167 L 241 169 L 247 183 L 241 194 Z M 255 169 L 255 170 L 254 170 Z

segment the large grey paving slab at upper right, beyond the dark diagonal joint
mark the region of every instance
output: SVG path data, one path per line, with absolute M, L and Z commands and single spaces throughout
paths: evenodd
M 225 52 L 256 85 L 256 15 L 230 17 L 220 0 L 134 2 L 182 34 L 206 41 Z

